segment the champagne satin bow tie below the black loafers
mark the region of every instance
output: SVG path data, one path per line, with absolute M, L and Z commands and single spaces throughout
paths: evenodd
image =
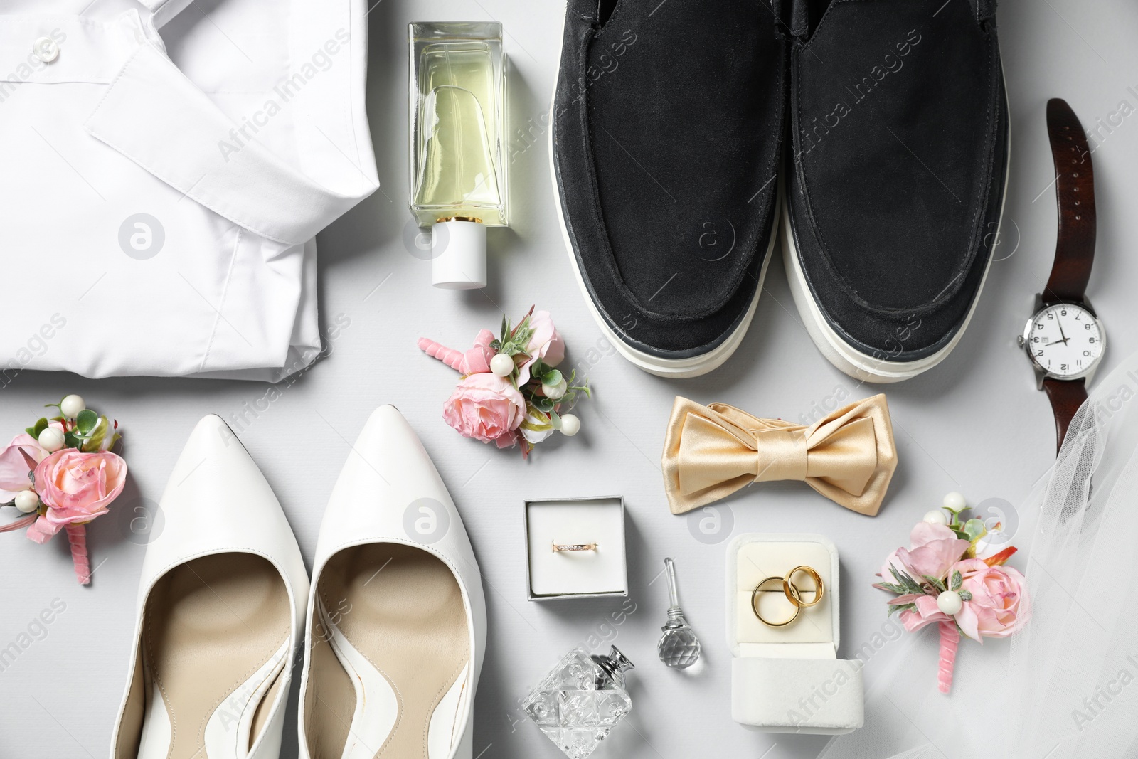
M 674 514 L 751 482 L 805 480 L 839 505 L 872 517 L 897 469 L 897 448 L 884 395 L 851 403 L 809 427 L 677 396 L 662 463 Z

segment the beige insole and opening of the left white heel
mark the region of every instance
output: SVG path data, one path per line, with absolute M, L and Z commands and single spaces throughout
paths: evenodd
M 280 572 L 255 554 L 201 556 L 163 576 L 145 610 L 139 759 L 245 756 L 265 721 L 261 701 L 279 691 L 290 613 Z

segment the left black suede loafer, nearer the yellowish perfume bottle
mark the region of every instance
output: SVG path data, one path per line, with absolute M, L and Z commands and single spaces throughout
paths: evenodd
M 785 36 L 756 0 L 568 0 L 550 156 L 604 333 L 695 377 L 739 347 L 777 229 Z

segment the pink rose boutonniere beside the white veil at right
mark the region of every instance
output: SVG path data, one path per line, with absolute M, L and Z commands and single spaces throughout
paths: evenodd
M 909 535 L 912 546 L 898 548 L 885 560 L 874 587 L 897 595 L 889 613 L 900 612 L 908 632 L 935 624 L 940 629 L 941 693 L 953 686 L 953 669 L 960 633 L 983 643 L 986 637 L 1008 637 L 1031 619 L 1028 580 L 1004 564 L 1014 546 L 987 558 L 978 544 L 991 529 L 980 519 L 962 521 L 964 496 L 949 493 L 943 510 L 930 511 Z M 947 512 L 947 513 L 946 513 Z

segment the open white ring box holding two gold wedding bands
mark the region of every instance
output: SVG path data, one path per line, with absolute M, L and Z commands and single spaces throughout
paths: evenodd
M 806 564 L 825 585 L 822 602 L 803 608 L 785 627 L 764 625 L 751 610 L 751 593 L 766 577 L 783 577 Z M 801 591 L 814 588 L 805 572 Z M 760 592 L 760 611 L 782 621 L 794 607 L 772 580 Z M 806 593 L 809 602 L 815 596 Z M 838 658 L 840 638 L 838 548 L 823 535 L 749 533 L 727 546 L 727 644 L 731 716 L 764 733 L 839 735 L 865 721 L 861 661 Z

